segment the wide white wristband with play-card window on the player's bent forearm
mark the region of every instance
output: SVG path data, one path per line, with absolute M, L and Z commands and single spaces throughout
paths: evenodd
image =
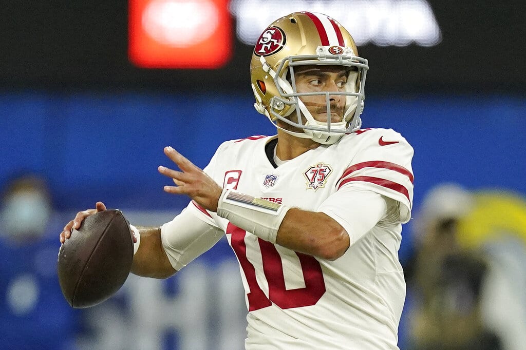
M 223 190 L 217 214 L 262 240 L 276 243 L 281 221 L 290 208 L 233 190 Z

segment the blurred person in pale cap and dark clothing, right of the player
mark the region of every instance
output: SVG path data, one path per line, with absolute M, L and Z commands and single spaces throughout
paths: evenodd
M 471 194 L 445 184 L 430 191 L 414 223 L 416 253 L 404 267 L 413 301 L 412 349 L 499 350 L 500 336 L 482 314 L 490 261 L 459 241 L 459 224 L 474 207 Z

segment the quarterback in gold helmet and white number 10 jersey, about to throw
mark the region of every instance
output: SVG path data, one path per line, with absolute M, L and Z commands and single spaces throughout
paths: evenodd
M 246 292 L 247 349 L 397 349 L 413 149 L 391 129 L 360 129 L 368 69 L 331 17 L 270 24 L 250 75 L 277 135 L 226 141 L 204 170 L 166 147 L 176 167 L 159 167 L 173 181 L 164 190 L 191 201 L 160 227 L 132 227 L 132 272 L 169 277 L 226 235 Z M 105 209 L 79 212 L 60 240 Z

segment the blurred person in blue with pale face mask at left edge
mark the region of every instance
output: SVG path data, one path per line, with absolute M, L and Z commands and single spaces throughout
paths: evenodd
M 75 348 L 77 311 L 58 284 L 55 233 L 62 228 L 54 215 L 44 179 L 24 174 L 6 184 L 0 207 L 2 348 Z

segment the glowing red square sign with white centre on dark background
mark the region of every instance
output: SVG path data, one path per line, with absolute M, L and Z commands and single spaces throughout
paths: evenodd
M 228 0 L 129 0 L 128 57 L 142 68 L 219 68 L 231 57 Z

